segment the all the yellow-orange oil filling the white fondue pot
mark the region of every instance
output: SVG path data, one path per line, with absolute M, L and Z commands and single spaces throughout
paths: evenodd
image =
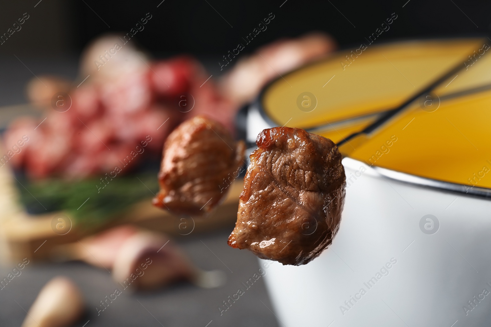
M 340 149 L 368 165 L 491 188 L 491 54 L 468 57 L 482 53 L 484 43 L 461 39 L 373 46 L 345 70 L 340 61 L 349 51 L 343 51 L 273 82 L 264 91 L 263 108 L 278 126 L 291 117 L 287 126 L 310 128 L 338 143 L 377 119 L 367 115 L 397 107 L 460 62 L 463 70 L 433 91 L 429 106 L 425 99 L 414 101 L 370 135 Z M 317 98 L 313 111 L 299 109 L 302 92 Z

